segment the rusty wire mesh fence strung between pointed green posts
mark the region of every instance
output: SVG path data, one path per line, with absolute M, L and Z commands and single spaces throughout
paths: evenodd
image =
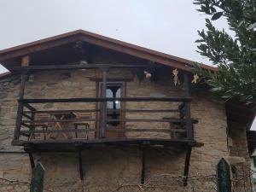
M 232 192 L 256 192 L 252 183 L 252 172 L 233 175 Z M 217 192 L 218 182 L 215 174 L 187 177 L 170 174 L 154 175 L 140 183 L 139 177 L 95 177 L 84 181 L 56 181 L 45 178 L 44 192 Z M 1 192 L 27 192 L 30 183 L 0 178 Z

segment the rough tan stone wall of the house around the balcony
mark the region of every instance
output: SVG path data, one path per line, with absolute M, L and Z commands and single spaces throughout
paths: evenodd
M 96 83 L 90 79 L 100 78 L 96 70 L 69 72 L 35 73 L 34 81 L 26 83 L 26 98 L 68 98 L 96 96 Z M 182 96 L 182 85 L 174 86 L 172 80 L 163 76 L 154 83 L 148 79 L 139 80 L 132 71 L 113 70 L 109 77 L 134 79 L 126 83 L 127 96 Z M 19 79 L 15 76 L 0 81 L 0 148 L 2 151 L 20 151 L 11 145 L 15 128 Z M 224 104 L 212 97 L 207 91 L 193 91 L 191 102 L 192 117 L 199 120 L 195 125 L 195 140 L 204 143 L 201 148 L 193 148 L 190 161 L 190 174 L 212 174 L 221 157 L 229 155 L 227 148 L 226 117 Z M 151 102 L 147 108 L 166 108 L 170 103 L 156 104 Z M 140 104 L 128 103 L 127 108 L 135 108 Z M 60 105 L 44 104 L 38 108 L 83 108 L 84 104 Z M 89 108 L 95 108 L 90 105 Z M 141 106 L 142 108 L 145 105 Z M 170 106 L 169 106 L 170 107 Z M 173 106 L 174 107 L 174 106 Z M 88 106 L 87 106 L 88 108 Z M 132 118 L 134 114 L 127 114 Z M 137 114 L 138 115 L 138 114 Z M 166 115 L 166 114 L 164 114 Z M 154 116 L 163 118 L 164 116 Z M 130 124 L 131 127 L 137 125 Z M 139 125 L 141 126 L 141 125 Z M 147 127 L 160 127 L 150 124 Z M 166 126 L 166 125 L 161 125 Z M 144 127 L 146 128 L 146 127 Z M 130 135 L 129 137 L 136 137 Z M 142 136 L 138 136 L 142 137 Z M 166 135 L 158 135 L 166 137 Z M 241 148 L 243 151 L 244 148 Z M 141 151 L 138 148 L 90 148 L 83 152 L 84 185 L 91 178 L 107 178 L 108 183 L 121 179 L 140 181 Z M 247 154 L 242 154 L 247 155 Z M 45 170 L 45 186 L 54 189 L 61 185 L 61 191 L 82 191 L 79 179 L 78 154 L 37 154 Z M 185 152 L 182 148 L 151 148 L 146 153 L 146 179 L 155 174 L 182 175 Z M 0 154 L 0 191 L 19 191 L 10 186 L 1 186 L 1 178 L 29 181 L 31 168 L 27 154 Z M 72 184 L 71 184 L 72 183 Z M 21 184 L 20 184 L 21 185 Z M 2 188 L 1 188 L 2 187 Z M 25 188 L 25 187 L 24 187 Z M 26 189 L 24 189 L 26 191 Z M 55 190 L 57 191 L 57 190 Z M 87 191 L 87 190 L 84 190 Z M 91 190 L 93 191 L 93 190 Z M 97 191 L 97 190 L 95 190 Z

